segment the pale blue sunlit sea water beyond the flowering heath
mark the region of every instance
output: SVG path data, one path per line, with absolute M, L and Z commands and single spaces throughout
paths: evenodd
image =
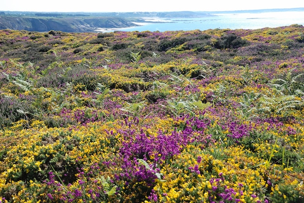
M 147 19 L 149 20 L 149 19 Z M 151 19 L 150 19 L 151 20 Z M 217 14 L 203 18 L 157 18 L 162 23 L 144 23 L 120 31 L 190 31 L 208 29 L 260 29 L 304 25 L 304 11 Z

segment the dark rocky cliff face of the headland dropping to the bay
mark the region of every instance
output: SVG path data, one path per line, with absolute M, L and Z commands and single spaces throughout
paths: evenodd
M 120 17 L 12 17 L 0 16 L 0 30 L 92 32 L 98 28 L 126 28 L 136 26 Z

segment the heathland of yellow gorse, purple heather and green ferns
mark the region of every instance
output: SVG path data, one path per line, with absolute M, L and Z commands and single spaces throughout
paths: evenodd
M 0 203 L 304 201 L 304 27 L 0 31 Z

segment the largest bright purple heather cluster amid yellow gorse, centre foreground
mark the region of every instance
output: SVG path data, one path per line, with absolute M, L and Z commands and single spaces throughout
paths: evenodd
M 118 131 L 123 136 L 122 147 L 119 150 L 122 171 L 116 178 L 126 181 L 146 181 L 151 185 L 157 178 L 156 174 L 160 171 L 157 166 L 163 161 L 178 155 L 188 143 L 205 144 L 208 142 L 206 140 L 209 140 L 210 137 L 204 134 L 204 130 L 209 122 L 198 118 L 188 119 L 187 117 L 183 117 L 182 121 L 182 124 L 176 126 L 171 132 L 159 130 L 156 135 L 151 135 L 143 128 L 139 133 L 136 133 L 133 127 L 138 125 L 138 119 L 133 121 L 125 119 L 122 125 L 127 126 L 127 128 Z M 150 164 L 144 166 L 138 162 L 138 159 L 148 161 Z M 198 163 L 201 159 L 202 157 L 198 157 Z M 190 170 L 200 174 L 198 165 Z

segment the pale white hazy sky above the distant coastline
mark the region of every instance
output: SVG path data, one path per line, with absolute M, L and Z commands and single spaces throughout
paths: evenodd
M 304 0 L 0 0 L 0 11 L 140 12 L 303 8 Z

